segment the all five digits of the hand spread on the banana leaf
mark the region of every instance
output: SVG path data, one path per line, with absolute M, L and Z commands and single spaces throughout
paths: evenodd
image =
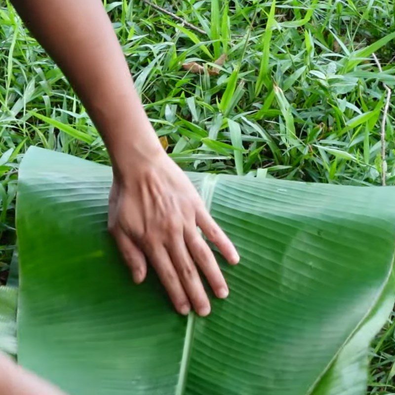
M 161 227 L 153 228 L 144 237 L 136 237 L 134 232 L 128 231 L 130 225 L 112 226 L 111 233 L 136 283 L 142 282 L 147 275 L 146 256 L 177 312 L 187 315 L 192 307 L 198 315 L 207 316 L 211 307 L 197 266 L 217 297 L 226 298 L 229 289 L 210 247 L 196 226 L 229 263 L 236 264 L 239 257 L 230 239 L 206 209 L 203 207 L 195 213 L 192 220 L 191 212 L 188 212 L 180 215 L 177 221 L 173 217 L 168 224 L 162 218 Z

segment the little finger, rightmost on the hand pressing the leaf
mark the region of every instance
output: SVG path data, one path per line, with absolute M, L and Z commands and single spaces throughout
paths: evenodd
M 196 224 L 203 234 L 218 247 L 221 254 L 230 264 L 236 265 L 238 263 L 240 257 L 235 246 L 205 208 L 197 211 Z

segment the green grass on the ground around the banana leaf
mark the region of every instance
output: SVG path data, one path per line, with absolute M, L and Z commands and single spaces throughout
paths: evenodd
M 149 117 L 184 169 L 395 184 L 394 0 L 105 2 Z M 14 250 L 18 164 L 30 145 L 109 163 L 60 70 L 0 6 L 0 270 Z M 380 60 L 379 72 L 372 58 Z M 181 65 L 212 67 L 194 74 Z M 384 168 L 384 173 L 383 173 Z M 1 272 L 0 272 L 1 274 Z M 372 345 L 368 394 L 395 394 L 395 317 Z

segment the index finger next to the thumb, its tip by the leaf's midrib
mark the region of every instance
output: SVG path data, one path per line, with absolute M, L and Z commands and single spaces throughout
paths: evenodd
M 191 305 L 164 246 L 156 245 L 148 253 L 148 257 L 175 309 L 180 314 L 187 315 L 191 310 Z

